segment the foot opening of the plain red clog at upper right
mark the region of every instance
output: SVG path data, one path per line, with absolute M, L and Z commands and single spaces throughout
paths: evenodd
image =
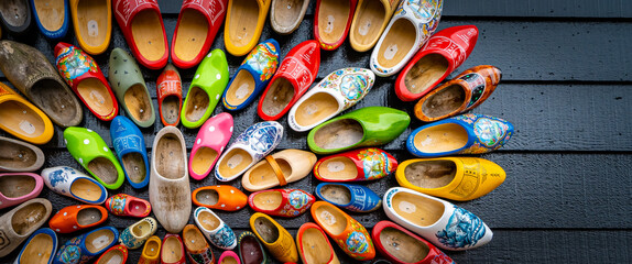
M 448 59 L 440 54 L 427 54 L 419 58 L 404 76 L 406 89 L 412 94 L 423 94 L 434 87 L 448 70 Z

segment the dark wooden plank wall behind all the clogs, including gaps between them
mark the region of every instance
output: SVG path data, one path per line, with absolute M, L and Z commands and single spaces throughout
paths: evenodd
M 159 0 L 167 38 L 171 42 L 182 1 Z M 313 1 L 314 2 L 314 1 Z M 457 263 L 632 263 L 632 3 L 626 0 L 445 0 L 439 30 L 460 24 L 475 24 L 481 35 L 469 59 L 454 75 L 468 67 L 491 64 L 503 70 L 503 80 L 487 102 L 473 112 L 506 119 L 516 127 L 515 136 L 500 151 L 482 155 L 501 165 L 508 173 L 505 183 L 488 196 L 457 205 L 481 217 L 494 231 L 486 246 L 467 252 L 447 252 Z M 313 9 L 292 35 L 280 36 L 269 23 L 262 38 L 274 37 L 285 55 L 302 41 L 313 38 Z M 9 36 L 12 38 L 12 36 Z M 20 40 L 40 48 L 51 62 L 53 47 L 40 34 Z M 66 37 L 75 43 L 73 34 Z M 129 51 L 115 22 L 108 52 L 95 58 L 107 74 L 109 51 Z M 214 48 L 224 48 L 222 31 Z M 348 43 L 334 52 L 322 53 L 318 77 L 347 67 L 368 67 L 370 53 L 357 53 Z M 242 57 L 228 55 L 233 74 Z M 195 69 L 183 70 L 186 92 Z M 160 70 L 143 69 L 155 105 L 155 79 Z M 352 109 L 391 106 L 412 113 L 414 103 L 402 103 L 393 90 L 392 78 L 379 78 L 373 90 Z M 9 81 L 0 75 L 0 81 Z M 157 105 L 156 105 L 157 106 Z M 221 107 L 216 113 L 224 111 Z M 124 112 L 121 111 L 122 114 Z M 236 133 L 260 121 L 255 105 L 236 112 Z M 286 127 L 286 118 L 280 120 Z M 414 120 L 404 134 L 383 146 L 399 161 L 412 158 L 404 140 L 423 123 Z M 109 123 L 85 111 L 83 127 L 97 131 L 110 142 Z M 143 129 L 148 148 L 162 128 Z M 179 127 L 190 146 L 197 130 Z M 287 127 L 286 127 L 287 128 Z M 53 140 L 42 146 L 44 167 L 69 165 L 80 167 L 63 145 L 62 132 L 55 128 Z M 3 134 L 0 132 L 0 134 Z M 288 131 L 279 148 L 306 148 L 306 133 Z M 150 150 L 151 153 L 151 150 Z M 318 182 L 308 176 L 291 188 L 313 191 Z M 193 182 L 192 188 L 217 184 L 213 176 Z M 239 187 L 240 182 L 230 183 Z M 396 186 L 394 177 L 368 187 L 378 194 Z M 146 188 L 135 190 L 128 184 L 117 191 L 149 198 Z M 58 210 L 77 201 L 52 194 L 46 188 L 41 197 L 53 201 Z M 0 213 L 7 210 L 0 211 Z M 249 230 L 253 211 L 218 212 L 239 234 Z M 353 213 L 367 228 L 386 219 L 382 210 Z M 122 231 L 137 219 L 110 217 L 106 224 Z M 304 215 L 279 222 L 295 234 Z M 193 219 L 190 220 L 193 223 Z M 159 230 L 164 235 L 164 230 Z M 65 242 L 73 235 L 59 235 Z M 18 253 L 0 258 L 10 263 Z M 219 256 L 220 251 L 215 251 Z M 345 263 L 353 263 L 341 251 Z M 140 250 L 131 251 L 129 263 L 135 263 Z

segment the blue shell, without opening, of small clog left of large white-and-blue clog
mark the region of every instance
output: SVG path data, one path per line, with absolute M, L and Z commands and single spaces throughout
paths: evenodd
M 351 199 L 348 204 L 338 204 L 325 197 L 323 195 L 323 187 L 325 186 L 341 186 L 342 188 L 347 188 L 349 194 L 351 195 Z M 316 196 L 324 201 L 327 201 L 334 206 L 345 208 L 349 211 L 355 212 L 369 212 L 373 211 L 382 205 L 382 199 L 380 196 L 375 194 L 373 190 L 369 189 L 368 187 L 361 185 L 350 185 L 350 184 L 334 184 L 334 183 L 320 183 L 316 186 Z

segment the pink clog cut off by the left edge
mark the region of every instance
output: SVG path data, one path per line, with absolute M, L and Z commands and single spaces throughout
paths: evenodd
M 0 174 L 0 209 L 20 205 L 42 193 L 44 180 L 33 173 Z

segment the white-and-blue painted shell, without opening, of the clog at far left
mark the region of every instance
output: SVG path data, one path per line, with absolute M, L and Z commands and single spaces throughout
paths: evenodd
M 46 184 L 48 189 L 59 195 L 75 198 L 86 204 L 100 205 L 103 204 L 108 198 L 108 191 L 106 190 L 106 187 L 99 184 L 99 182 L 92 179 L 91 177 L 86 176 L 85 174 L 72 167 L 58 166 L 58 167 L 45 168 L 42 170 L 42 178 L 44 179 L 44 184 Z M 72 193 L 73 184 L 78 179 L 88 180 L 98 186 L 100 188 L 99 198 L 88 200 L 86 199 L 86 197 L 79 197 L 76 194 L 73 194 Z

